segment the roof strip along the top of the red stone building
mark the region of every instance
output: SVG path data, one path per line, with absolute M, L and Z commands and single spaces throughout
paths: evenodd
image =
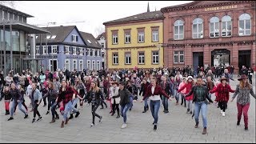
M 165 10 L 176 10 L 176 9 L 182 9 L 182 8 L 186 9 L 186 8 L 190 8 L 190 6 L 197 7 L 197 6 L 218 5 L 226 2 L 235 2 L 235 1 L 194 1 L 194 2 L 188 2 L 181 5 L 176 5 L 176 6 L 163 7 L 161 11 L 163 12 Z

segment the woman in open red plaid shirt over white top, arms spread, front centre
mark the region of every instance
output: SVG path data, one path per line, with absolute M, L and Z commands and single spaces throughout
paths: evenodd
M 170 97 L 168 94 L 166 94 L 165 90 L 162 90 L 162 87 L 157 85 L 157 78 L 153 77 L 151 78 L 151 85 L 146 88 L 146 94 L 142 98 L 142 101 L 145 100 L 147 97 L 150 97 L 150 111 L 152 114 L 152 117 L 154 118 L 154 131 L 158 130 L 158 111 L 160 108 L 160 95 L 163 95 L 164 97 L 168 98 Z

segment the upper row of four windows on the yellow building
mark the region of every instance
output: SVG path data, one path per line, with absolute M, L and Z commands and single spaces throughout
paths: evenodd
M 138 43 L 145 42 L 145 28 L 137 29 L 138 34 Z M 131 34 L 130 30 L 124 30 L 124 42 L 125 44 L 131 43 Z M 159 30 L 158 28 L 151 28 L 151 42 L 159 42 Z M 112 31 L 112 44 L 117 45 L 118 44 L 118 30 Z

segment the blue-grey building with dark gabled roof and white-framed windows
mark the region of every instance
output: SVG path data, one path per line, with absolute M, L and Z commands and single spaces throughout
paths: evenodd
M 42 70 L 99 70 L 100 45 L 91 35 L 76 26 L 46 27 L 50 34 L 36 36 L 36 57 L 42 58 Z M 92 37 L 91 37 L 92 36 Z M 96 54 L 97 52 L 97 54 Z M 88 62 L 92 65 L 88 66 Z M 94 64 L 94 65 L 93 65 Z

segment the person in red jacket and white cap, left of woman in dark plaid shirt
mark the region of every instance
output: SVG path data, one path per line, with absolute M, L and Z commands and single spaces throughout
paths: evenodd
M 194 86 L 194 80 L 192 76 L 189 76 L 187 79 L 187 82 L 184 86 L 182 86 L 179 90 L 178 93 L 181 92 L 182 90 L 184 90 L 186 88 L 186 92 L 185 94 L 189 94 L 190 90 L 192 90 L 192 87 Z M 190 114 L 192 114 L 192 110 L 193 110 L 193 94 L 191 94 L 188 97 L 185 97 L 186 99 L 186 106 L 187 106 L 187 110 L 186 110 L 186 114 L 188 114 L 190 112 Z

